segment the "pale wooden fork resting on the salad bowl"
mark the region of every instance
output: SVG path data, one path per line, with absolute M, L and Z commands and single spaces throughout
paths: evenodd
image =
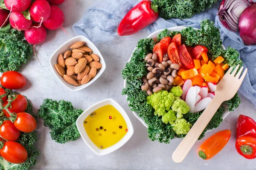
M 233 69 L 233 67 L 231 67 L 218 83 L 214 98 L 172 154 L 173 161 L 180 163 L 183 161 L 183 159 L 185 159 L 186 155 L 189 153 L 189 150 L 191 150 L 192 146 L 198 140 L 199 136 L 208 125 L 212 119 L 212 116 L 216 113 L 222 102 L 232 99 L 232 97 L 235 96 L 247 73 L 246 68 L 244 73 L 241 75 L 241 72 L 243 71 L 243 67 L 241 67 L 236 74 L 238 68 L 239 65 L 237 65 L 235 70 L 231 73 Z

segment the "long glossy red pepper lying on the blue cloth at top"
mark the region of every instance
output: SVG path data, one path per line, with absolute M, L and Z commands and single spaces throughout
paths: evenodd
M 117 33 L 120 36 L 134 34 L 157 20 L 157 6 L 151 0 L 142 0 L 122 19 Z

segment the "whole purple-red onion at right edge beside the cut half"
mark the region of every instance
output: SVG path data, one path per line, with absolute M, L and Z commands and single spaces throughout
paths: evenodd
M 256 45 L 256 3 L 242 12 L 238 28 L 245 45 Z

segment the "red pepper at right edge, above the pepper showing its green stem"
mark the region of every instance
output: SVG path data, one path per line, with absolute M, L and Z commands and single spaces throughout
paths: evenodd
M 251 136 L 256 138 L 256 122 L 244 115 L 239 115 L 236 125 L 236 137 Z

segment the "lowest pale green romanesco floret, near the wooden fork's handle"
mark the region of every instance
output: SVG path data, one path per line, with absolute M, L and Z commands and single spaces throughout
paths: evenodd
M 185 119 L 177 118 L 172 126 L 172 129 L 176 132 L 177 135 L 185 135 L 189 132 L 192 124 L 187 122 Z

